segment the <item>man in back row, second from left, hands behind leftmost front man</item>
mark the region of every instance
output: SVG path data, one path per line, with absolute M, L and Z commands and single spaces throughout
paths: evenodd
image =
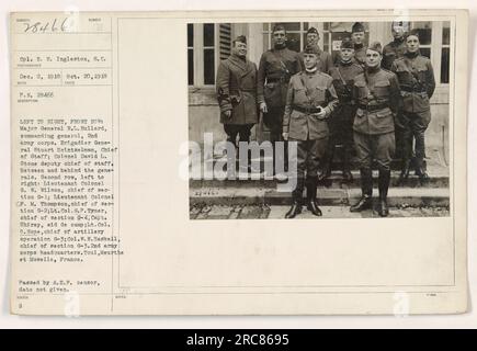
M 282 24 L 276 24 L 272 32 L 273 48 L 262 54 L 258 72 L 258 93 L 264 97 L 260 103 L 263 112 L 263 123 L 270 129 L 270 141 L 273 145 L 273 172 L 276 161 L 287 168 L 287 145 L 284 155 L 276 155 L 275 143 L 283 140 L 282 125 L 285 111 L 286 92 L 289 78 L 302 70 L 298 53 L 286 47 L 286 31 Z

